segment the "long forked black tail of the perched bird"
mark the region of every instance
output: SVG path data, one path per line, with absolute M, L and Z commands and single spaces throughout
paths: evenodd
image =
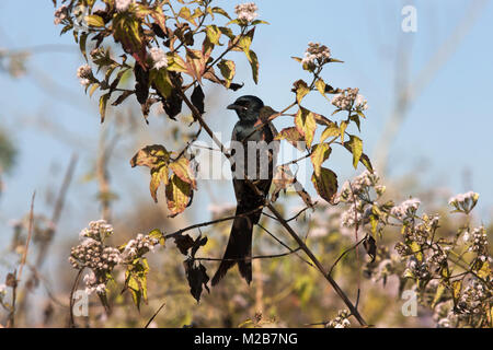
M 243 212 L 245 211 L 239 206 L 236 214 L 239 215 Z M 213 285 L 219 283 L 226 276 L 226 272 L 236 264 L 238 264 L 240 275 L 246 280 L 246 283 L 250 284 L 252 281 L 252 232 L 253 224 L 259 222 L 260 214 L 253 213 L 248 217 L 238 217 L 234 219 L 225 256 L 213 277 Z

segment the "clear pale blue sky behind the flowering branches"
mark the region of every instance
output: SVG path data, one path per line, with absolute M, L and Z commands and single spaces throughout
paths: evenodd
M 308 78 L 290 56 L 302 56 L 308 42 L 323 43 L 334 57 L 345 61 L 328 68 L 325 80 L 334 86 L 358 86 L 368 100 L 370 109 L 363 122 L 362 135 L 366 152 L 372 154 L 393 107 L 397 45 L 400 43 L 404 47 L 411 77 L 415 77 L 449 37 L 471 2 L 260 0 L 256 3 L 261 19 L 271 23 L 257 28 L 252 47 L 261 61 L 260 83 L 252 82 L 248 63 L 238 56 L 238 81 L 245 82 L 240 92 L 259 95 L 274 108 L 288 105 L 293 98 L 291 83 Z M 218 1 L 230 12 L 234 3 Z M 404 4 L 414 4 L 417 9 L 416 33 L 403 34 L 401 31 Z M 14 80 L 0 74 L 0 121 L 11 131 L 21 151 L 18 166 L 7 178 L 8 187 L 0 199 L 0 230 L 3 232 L 7 220 L 28 210 L 35 189 L 41 191 L 38 203 L 43 208 L 46 185 L 57 186 L 61 180 L 62 175 L 54 167 L 62 173 L 73 151 L 81 154 L 76 178 L 79 189 L 71 192 L 78 199 L 71 198 L 68 206 L 80 209 L 85 217 L 74 225 L 83 225 L 83 220 L 98 213 L 95 188 L 80 182 L 93 161 L 96 147 L 81 151 L 35 126 L 39 119 L 53 121 L 67 131 L 61 132 L 67 138 L 77 135 L 81 140 L 84 136 L 96 135 L 101 128 L 95 100 L 83 95 L 76 77 L 82 59 L 71 35 L 59 36 L 60 27 L 53 24 L 53 12 L 51 1 L 47 0 L 0 2 L 0 48 L 67 45 L 57 52 L 34 55 L 28 60 L 28 73 L 23 78 Z M 488 2 L 463 40 L 412 104 L 389 160 L 390 176 L 419 170 L 415 177 L 421 178 L 423 185 L 449 188 L 450 192 L 469 189 L 480 192 L 479 213 L 486 222 L 493 208 L 493 116 L 490 107 L 493 48 L 489 45 L 493 33 L 492 18 L 493 5 Z M 50 80 L 59 86 L 55 95 Z M 221 91 L 218 98 L 226 105 L 240 92 Z M 330 114 L 323 100 L 313 97 L 308 103 L 314 110 Z M 208 118 L 216 130 L 229 135 L 236 118 L 226 110 L 220 113 L 221 116 L 215 112 Z M 284 121 L 277 124 L 279 128 L 284 125 Z M 145 130 L 144 124 L 141 127 Z M 331 162 L 342 173 L 341 178 L 355 175 L 347 156 L 334 155 Z M 424 165 L 419 167 L 419 164 Z M 467 170 L 472 188 L 465 185 Z M 119 175 L 129 178 L 135 176 L 135 171 L 127 166 Z M 137 179 L 147 191 L 148 175 L 142 173 Z M 231 201 L 229 187 L 225 186 L 220 200 Z M 413 194 L 403 194 L 403 197 L 406 195 Z

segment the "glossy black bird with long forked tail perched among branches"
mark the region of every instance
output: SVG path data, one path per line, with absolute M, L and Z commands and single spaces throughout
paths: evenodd
M 264 108 L 262 100 L 251 95 L 241 96 L 227 108 L 236 110 L 240 118 L 234 125 L 231 141 L 239 141 L 243 147 L 241 149 L 233 147 L 231 150 L 233 161 L 231 171 L 233 173 L 233 187 L 237 197 L 237 218 L 231 228 L 222 261 L 216 275 L 213 277 L 213 285 L 217 284 L 236 264 L 238 264 L 240 275 L 246 282 L 250 284 L 252 281 L 251 257 L 253 225 L 259 223 L 262 215 L 261 207 L 265 202 L 272 184 L 277 153 L 277 142 L 273 142 L 275 129 L 272 124 L 268 122 L 255 131 L 255 122 L 261 119 L 261 112 Z M 266 143 L 260 143 L 261 141 L 265 141 Z M 256 147 L 255 153 L 250 152 L 250 159 L 248 143 L 250 143 L 250 147 Z M 237 142 L 237 147 L 238 144 Z M 254 160 L 252 160 L 253 155 L 255 158 Z M 250 171 L 250 165 L 246 165 L 252 162 L 255 165 L 255 172 L 253 174 Z M 239 168 L 239 166 L 241 167 Z M 261 196 L 255 194 L 251 186 L 249 186 L 243 175 L 246 175 L 255 184 L 262 192 Z

